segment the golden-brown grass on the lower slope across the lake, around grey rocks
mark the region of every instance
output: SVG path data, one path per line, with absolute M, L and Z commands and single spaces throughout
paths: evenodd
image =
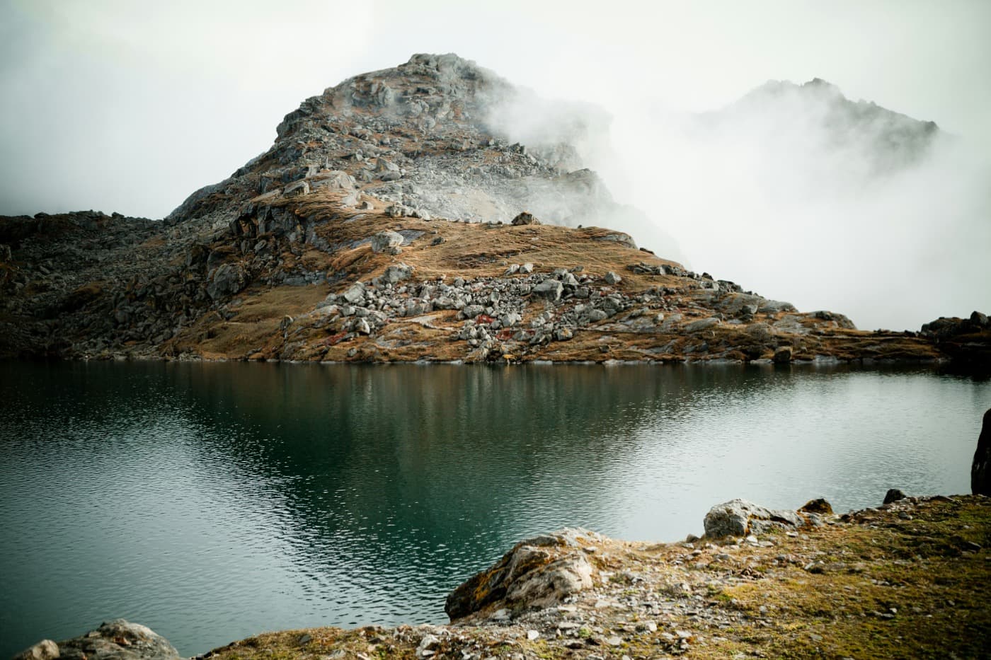
M 339 193 L 337 193 L 339 194 Z M 642 275 L 628 267 L 645 263 L 650 266 L 676 265 L 649 252 L 630 248 L 606 237 L 614 234 L 596 227 L 568 228 L 551 225 L 490 225 L 391 218 L 384 204 L 375 201 L 372 211 L 360 212 L 345 208 L 337 194 L 317 192 L 300 197 L 280 199 L 277 203 L 294 211 L 301 224 L 315 227 L 315 234 L 331 246 L 330 251 L 312 245 L 293 245 L 281 254 L 286 272 L 305 270 L 326 272 L 335 284 L 300 287 L 265 288 L 253 286 L 239 293 L 229 305 L 227 318 L 209 314 L 192 328 L 185 329 L 169 345 L 172 354 L 193 353 L 204 358 L 227 359 L 294 359 L 309 361 L 410 361 L 484 359 L 475 355 L 463 341 L 453 338 L 463 321 L 452 312 L 436 311 L 426 318 L 410 320 L 394 317 L 373 336 L 358 336 L 342 331 L 340 323 L 325 319 L 303 318 L 287 331 L 281 327 L 286 315 L 297 317 L 312 310 L 316 303 L 332 291 L 343 291 L 351 283 L 368 281 L 382 275 L 390 264 L 404 263 L 413 267 L 414 280 L 447 282 L 457 277 L 501 276 L 510 264 L 530 263 L 537 273 L 555 269 L 582 268 L 582 275 L 592 275 L 602 290 L 618 290 L 627 296 L 653 289 L 666 289 L 664 309 L 679 313 L 683 322 L 706 318 L 714 314 L 704 302 L 698 280 L 676 275 Z M 398 256 L 375 254 L 368 239 L 384 230 L 414 232 L 418 237 L 404 245 Z M 439 245 L 432 245 L 436 239 Z M 676 265 L 677 266 L 677 265 Z M 622 276 L 611 287 L 602 282 L 608 272 Z M 259 299 L 256 299 L 259 298 Z M 523 325 L 531 318 L 551 310 L 555 314 L 574 306 L 579 300 L 548 305 L 531 301 L 523 315 Z M 639 309 L 656 313 L 658 306 Z M 720 324 L 704 335 L 690 337 L 675 328 L 667 334 L 659 332 L 630 332 L 618 323 L 632 310 L 616 318 L 583 327 L 570 341 L 554 341 L 546 345 L 529 346 L 509 340 L 505 333 L 499 345 L 489 354 L 511 356 L 515 361 L 596 361 L 654 360 L 680 361 L 689 357 L 706 360 L 720 357 L 730 360 L 770 358 L 775 343 L 791 346 L 797 359 L 813 359 L 818 355 L 843 360 L 878 359 L 936 359 L 939 353 L 925 340 L 902 333 L 865 333 L 842 330 L 811 315 L 802 316 L 802 323 L 815 329 L 802 336 L 777 336 L 758 349 L 745 349 L 753 344 L 745 334 L 747 326 Z M 762 314 L 755 321 L 770 322 L 783 313 Z M 703 342 L 708 349 L 698 350 Z

